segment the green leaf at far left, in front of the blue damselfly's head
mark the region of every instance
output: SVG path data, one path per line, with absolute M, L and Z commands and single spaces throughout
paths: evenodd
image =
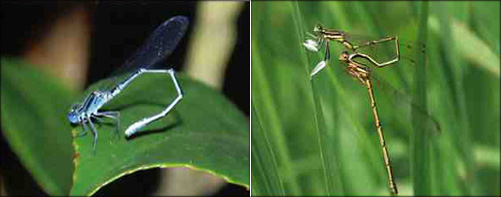
M 48 194 L 67 195 L 74 151 L 65 116 L 72 97 L 23 60 L 2 57 L 1 64 L 1 120 L 8 144 Z

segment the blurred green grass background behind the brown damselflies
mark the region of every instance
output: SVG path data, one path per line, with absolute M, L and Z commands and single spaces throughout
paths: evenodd
M 426 44 L 379 79 L 376 100 L 402 195 L 500 195 L 499 2 L 264 2 L 252 7 L 252 195 L 389 195 L 366 89 L 306 51 L 321 23 Z M 402 99 L 404 98 L 404 99 Z M 409 100 L 437 120 L 433 135 Z

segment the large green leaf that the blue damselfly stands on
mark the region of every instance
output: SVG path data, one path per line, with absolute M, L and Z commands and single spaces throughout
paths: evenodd
M 177 96 L 170 76 L 142 75 L 103 107 L 101 111 L 120 111 L 120 137 L 114 138 L 110 119 L 96 128 L 95 154 L 91 134 L 75 138 L 78 157 L 70 194 L 92 195 L 114 179 L 154 167 L 188 167 L 249 187 L 249 121 L 221 93 L 183 74 L 177 77 L 184 92 L 181 102 L 129 139 L 123 134 L 129 125 L 159 113 Z

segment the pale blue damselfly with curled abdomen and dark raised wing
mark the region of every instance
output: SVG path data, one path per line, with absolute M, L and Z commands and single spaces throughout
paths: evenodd
M 87 124 L 94 135 L 93 150 L 96 150 L 97 130 L 92 122 L 93 119 L 99 120 L 99 117 L 108 117 L 115 120 L 116 131 L 120 125 L 120 112 L 118 111 L 99 111 L 103 105 L 120 94 L 134 79 L 143 74 L 168 74 L 176 88 L 178 96 L 160 113 L 150 117 L 143 118 L 131 124 L 126 130 L 127 137 L 134 135 L 144 126 L 166 116 L 179 101 L 183 98 L 183 92 L 177 81 L 173 68 L 152 69 L 156 64 L 167 58 L 176 48 L 188 27 L 188 18 L 184 16 L 175 16 L 160 25 L 140 47 L 137 52 L 131 56 L 121 66 L 124 69 L 134 69 L 132 74 L 123 81 L 113 83 L 111 88 L 100 89 L 90 93 L 85 97 L 82 103 L 75 104 L 68 113 L 68 120 L 72 124 L 83 126 L 83 131 L 77 136 L 86 134 Z

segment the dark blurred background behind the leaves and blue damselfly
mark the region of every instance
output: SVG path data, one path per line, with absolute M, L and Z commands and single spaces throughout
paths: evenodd
M 204 21 L 207 15 L 201 9 L 207 8 L 208 2 L 2 2 L 1 14 L 1 55 L 23 56 L 32 63 L 42 65 L 54 76 L 61 78 L 68 87 L 82 91 L 90 84 L 104 79 L 116 72 L 121 64 L 147 39 L 149 34 L 162 22 L 175 15 L 184 15 L 190 19 L 185 37 L 171 54 L 167 63 L 178 71 L 185 71 L 190 65 L 190 42 L 194 28 Z M 215 2 L 211 2 L 215 3 Z M 229 56 L 222 58 L 220 66 L 220 89 L 237 107 L 249 115 L 250 98 L 250 52 L 249 52 L 249 3 L 233 2 L 230 6 L 219 6 L 214 11 L 236 12 L 237 32 L 234 44 L 229 44 Z M 205 8 L 202 8 L 205 6 Z M 210 13 L 209 13 L 210 14 Z M 197 16 L 200 15 L 200 16 Z M 210 15 L 209 15 L 210 16 Z M 71 30 L 77 32 L 72 32 Z M 230 39 L 231 40 L 231 39 Z M 58 48 L 57 43 L 75 43 L 74 48 Z M 207 46 L 210 48 L 210 46 Z M 233 48 L 234 47 L 234 48 Z M 226 63 L 225 63 L 226 61 Z M 194 61 L 196 62 L 196 61 Z M 50 65 L 50 66 L 47 66 Z M 194 72 L 194 71 L 187 71 Z M 196 71 L 195 71 L 196 72 Z M 201 79 L 203 81 L 203 79 Z M 214 82 L 218 84 L 218 82 Z M 222 84 L 221 84 L 222 83 Z M 2 194 L 9 195 L 47 195 L 31 178 L 18 158 L 10 150 L 4 138 L 1 140 L 1 182 Z M 201 176 L 212 185 L 208 192 L 186 193 L 187 195 L 249 195 L 241 186 L 221 183 L 222 180 L 200 172 L 188 172 L 186 169 L 164 170 L 150 169 L 124 176 L 100 189 L 97 195 L 168 195 L 162 193 L 163 177 Z M 164 181 L 162 181 L 164 180 Z M 168 181 L 173 180 L 167 178 Z M 211 181 L 213 183 L 211 183 Z M 167 181 L 167 182 L 168 182 Z M 186 190 L 190 189 L 186 186 Z M 216 189 L 214 189 L 216 188 Z M 182 194 L 180 194 L 182 195 Z

